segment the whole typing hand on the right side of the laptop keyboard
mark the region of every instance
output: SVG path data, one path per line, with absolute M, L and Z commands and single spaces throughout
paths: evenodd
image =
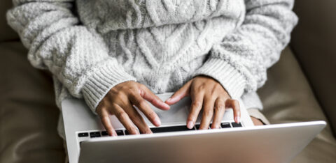
M 240 123 L 239 102 L 230 98 L 225 88 L 211 77 L 197 76 L 188 81 L 179 91 L 176 91 L 166 103 L 169 105 L 179 102 L 182 98 L 190 95 L 192 104 L 187 120 L 187 127 L 193 128 L 203 108 L 200 130 L 209 128 L 211 120 L 214 118 L 211 128 L 219 128 L 225 113 L 225 108 L 232 108 L 236 123 Z

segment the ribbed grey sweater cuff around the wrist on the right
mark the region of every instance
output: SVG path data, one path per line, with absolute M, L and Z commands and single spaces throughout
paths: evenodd
M 232 99 L 238 99 L 244 93 L 246 79 L 223 59 L 208 59 L 193 77 L 205 75 L 216 79 L 228 92 Z

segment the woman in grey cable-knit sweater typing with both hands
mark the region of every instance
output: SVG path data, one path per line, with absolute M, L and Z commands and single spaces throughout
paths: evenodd
M 57 105 L 83 98 L 111 136 L 114 114 L 131 134 L 156 126 L 148 102 L 167 110 L 190 95 L 189 128 L 219 127 L 238 98 L 255 125 L 267 123 L 255 93 L 297 23 L 293 0 L 13 0 L 8 24 L 36 68 L 52 72 Z M 154 93 L 175 92 L 162 102 Z M 148 102 L 146 102 L 148 101 Z M 62 123 L 59 123 L 62 124 Z M 64 137 L 62 125 L 59 132 Z M 139 131 L 137 128 L 139 128 Z

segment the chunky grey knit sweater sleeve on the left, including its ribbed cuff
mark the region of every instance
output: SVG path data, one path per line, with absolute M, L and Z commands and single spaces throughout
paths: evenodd
M 95 111 L 116 84 L 136 80 L 109 56 L 101 36 L 80 24 L 74 0 L 13 0 L 8 24 L 29 49 L 36 68 L 47 69 Z

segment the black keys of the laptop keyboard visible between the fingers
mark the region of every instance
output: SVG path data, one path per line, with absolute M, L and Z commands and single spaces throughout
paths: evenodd
M 232 127 L 243 127 L 241 123 L 221 123 L 221 128 L 232 128 Z M 153 133 L 160 132 L 180 132 L 180 131 L 190 131 L 190 130 L 198 130 L 200 125 L 197 124 L 193 129 L 188 129 L 186 125 L 177 125 L 177 126 L 169 126 L 169 127 L 153 127 L 151 128 Z M 128 135 L 129 132 L 127 130 L 116 130 L 118 136 Z M 80 138 L 94 138 L 94 137 L 107 137 L 109 134 L 106 131 L 95 131 L 95 132 L 80 132 L 78 133 L 78 137 Z

